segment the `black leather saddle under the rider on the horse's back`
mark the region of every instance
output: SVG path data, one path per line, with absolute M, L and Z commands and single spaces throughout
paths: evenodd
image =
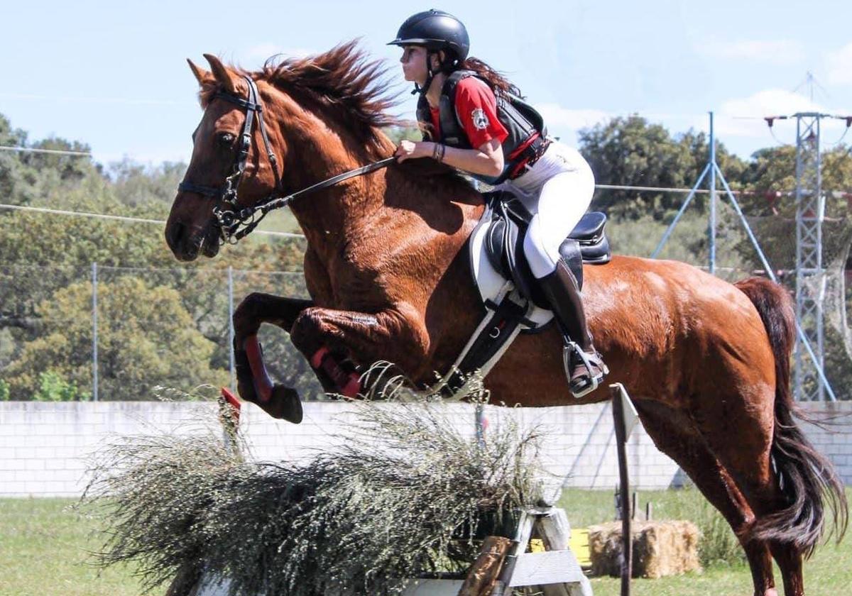
M 488 261 L 505 278 L 512 279 L 515 288 L 537 307 L 550 309 L 524 255 L 524 236 L 532 215 L 510 192 L 486 192 L 482 196 L 492 208 L 492 224 L 485 238 Z M 607 215 L 599 211 L 583 215 L 559 247 L 562 261 L 571 269 L 581 289 L 583 264 L 603 265 L 613 257 L 604 230 L 606 223 Z

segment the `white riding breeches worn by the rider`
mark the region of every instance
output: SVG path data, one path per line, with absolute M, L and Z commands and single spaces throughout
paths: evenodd
M 497 187 L 512 192 L 533 214 L 524 254 L 533 275 L 544 278 L 556 269 L 559 246 L 589 209 L 595 175 L 573 147 L 554 140 L 532 168 Z

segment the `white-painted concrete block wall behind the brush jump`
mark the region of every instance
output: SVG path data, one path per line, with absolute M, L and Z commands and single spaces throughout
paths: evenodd
M 242 428 L 254 459 L 305 461 L 315 450 L 335 448 L 357 407 L 342 402 L 308 403 L 302 424 L 292 425 L 245 404 Z M 459 429 L 473 437 L 473 406 L 442 407 Z M 813 409 L 852 415 L 852 403 L 820 404 Z M 215 404 L 186 402 L 0 403 L 0 496 L 79 496 L 88 481 L 88 458 L 112 438 L 209 433 L 215 425 L 215 410 Z M 599 490 L 613 490 L 618 483 L 609 404 L 541 409 L 486 406 L 486 418 L 492 432 L 512 418 L 521 427 L 534 426 L 545 433 L 540 455 L 553 494 L 563 482 Z M 805 427 L 810 440 L 838 467 L 843 481 L 852 484 L 852 424 L 844 422 L 834 431 Z M 662 489 L 683 482 L 676 463 L 656 450 L 641 426 L 630 437 L 628 462 L 636 488 Z

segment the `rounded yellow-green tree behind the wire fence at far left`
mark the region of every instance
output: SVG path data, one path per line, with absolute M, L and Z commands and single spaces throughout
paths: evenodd
M 69 387 L 91 387 L 91 296 L 91 284 L 72 284 L 37 307 L 44 320 L 60 320 L 27 341 L 3 371 L 12 398 L 39 395 L 43 371 Z M 196 330 L 175 290 L 123 277 L 99 284 L 98 301 L 101 320 L 109 322 L 98 329 L 102 399 L 150 399 L 158 385 L 188 392 L 227 382 L 227 371 L 210 368 L 215 345 Z

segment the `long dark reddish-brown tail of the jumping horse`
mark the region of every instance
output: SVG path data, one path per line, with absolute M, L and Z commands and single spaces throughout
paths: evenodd
M 771 456 L 786 506 L 757 520 L 752 537 L 792 544 L 809 557 L 820 542 L 826 507 L 833 513 L 838 540 L 846 531 L 849 505 L 832 463 L 805 438 L 795 418 L 811 421 L 793 402 L 790 357 L 796 337 L 796 318 L 786 289 L 765 278 L 735 284 L 746 294 L 763 320 L 775 357 L 775 425 Z

